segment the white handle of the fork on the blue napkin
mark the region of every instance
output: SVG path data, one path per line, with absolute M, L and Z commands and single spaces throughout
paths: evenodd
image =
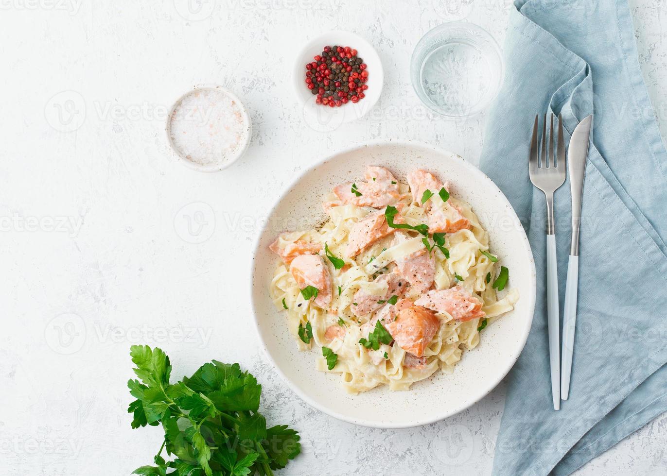
M 554 410 L 560 409 L 560 317 L 558 313 L 558 267 L 556 235 L 546 235 L 546 305 L 549 329 L 549 362 Z

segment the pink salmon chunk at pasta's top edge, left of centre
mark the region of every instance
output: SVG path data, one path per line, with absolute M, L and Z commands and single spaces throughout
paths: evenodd
M 384 167 L 370 166 L 366 169 L 364 177 L 366 178 L 365 182 L 343 183 L 335 187 L 333 193 L 343 203 L 352 203 L 352 205 L 359 207 L 383 208 L 396 203 L 400 199 L 398 181 Z M 352 191 L 353 185 L 357 193 Z

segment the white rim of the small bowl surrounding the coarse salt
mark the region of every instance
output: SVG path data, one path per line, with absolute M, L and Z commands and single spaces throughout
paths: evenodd
M 204 91 L 204 90 L 211 90 L 211 91 L 217 91 L 219 93 L 223 93 L 227 95 L 229 98 L 231 98 L 232 101 L 234 101 L 241 112 L 241 116 L 243 117 L 243 122 L 245 123 L 245 127 L 247 128 L 245 131 L 245 137 L 243 138 L 243 143 L 241 143 L 236 149 L 236 151 L 233 153 L 233 155 L 227 157 L 225 161 L 220 161 L 220 162 L 215 162 L 215 163 L 207 163 L 207 164 L 199 164 L 194 161 L 191 161 L 190 159 L 187 158 L 187 156 L 181 151 L 174 143 L 173 139 L 171 138 L 171 119 L 173 116 L 173 113 L 175 109 L 178 107 L 178 105 L 183 101 L 185 97 L 190 95 L 191 93 L 194 93 L 195 91 Z M 245 106 L 241 102 L 241 100 L 229 89 L 218 86 L 218 85 L 197 85 L 190 91 L 187 91 L 187 93 L 181 95 L 176 101 L 173 103 L 171 106 L 171 109 L 169 109 L 169 115 L 167 115 L 167 124 L 165 127 L 165 131 L 167 133 L 167 141 L 169 142 L 169 145 L 171 146 L 171 150 L 177 155 L 179 158 L 179 162 L 185 165 L 185 167 L 189 167 L 190 169 L 199 171 L 199 172 L 217 172 L 223 169 L 226 169 L 229 167 L 231 164 L 233 164 L 235 161 L 237 161 L 247 150 L 248 145 L 250 143 L 250 138 L 252 136 L 252 123 L 250 121 L 250 115 L 248 114 L 247 109 L 245 109 Z

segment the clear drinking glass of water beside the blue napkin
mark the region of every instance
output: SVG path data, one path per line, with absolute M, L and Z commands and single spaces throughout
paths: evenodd
M 503 61 L 496 40 L 462 21 L 435 27 L 415 47 L 410 78 L 430 109 L 452 119 L 479 113 L 496 97 Z

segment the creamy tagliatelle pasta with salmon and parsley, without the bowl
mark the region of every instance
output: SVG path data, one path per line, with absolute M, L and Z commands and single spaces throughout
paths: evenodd
M 351 393 L 452 373 L 519 298 L 470 205 L 428 171 L 406 178 L 368 167 L 325 198 L 323 225 L 270 246 L 271 296 L 299 350 L 315 347 Z

